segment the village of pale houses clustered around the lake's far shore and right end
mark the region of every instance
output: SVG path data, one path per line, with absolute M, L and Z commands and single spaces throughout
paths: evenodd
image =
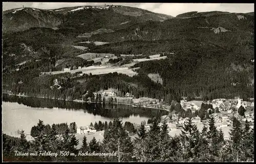
M 179 118 L 179 114 L 175 113 L 175 111 L 170 112 L 170 105 L 162 104 L 163 100 L 157 100 L 152 98 L 139 98 L 136 99 L 130 93 L 126 93 L 125 95 L 120 95 L 117 90 L 101 90 L 98 92 L 94 92 L 96 97 L 97 94 L 101 94 L 102 99 L 105 99 L 105 102 L 109 102 L 109 100 L 115 100 L 117 104 L 126 104 L 131 105 L 133 107 L 145 107 L 145 108 L 156 108 L 163 109 L 169 111 L 168 115 L 161 116 L 161 123 L 165 120 L 167 123 L 167 127 L 169 130 L 169 134 L 174 136 L 175 134 L 179 134 L 184 126 L 184 124 L 188 121 L 187 118 Z M 122 96 L 122 97 L 121 97 Z M 180 104 L 182 109 L 185 111 L 190 109 L 194 114 L 196 111 L 201 109 L 201 104 L 210 104 L 215 112 L 212 112 L 212 109 L 208 109 L 209 118 L 213 117 L 215 120 L 215 126 L 217 129 L 222 129 L 224 132 L 224 138 L 229 139 L 228 131 L 231 129 L 233 124 L 233 117 L 237 118 L 241 125 L 244 126 L 246 120 L 249 122 L 251 128 L 254 126 L 254 99 L 250 99 L 252 102 L 243 101 L 240 97 L 234 97 L 234 99 L 215 99 L 212 101 L 186 101 L 181 100 Z M 81 100 L 80 100 L 81 101 Z M 90 98 L 88 99 L 90 102 Z M 245 109 L 244 115 L 239 113 L 239 108 L 243 107 Z M 191 123 L 196 125 L 199 131 L 202 130 L 203 126 L 209 126 L 210 119 L 202 120 L 199 116 L 194 116 L 191 118 Z M 150 126 L 152 124 L 145 124 L 145 129 L 150 130 Z M 135 129 L 139 129 L 140 125 L 134 124 Z M 93 127 L 86 126 L 80 127 L 77 130 L 78 134 L 91 134 L 96 132 Z

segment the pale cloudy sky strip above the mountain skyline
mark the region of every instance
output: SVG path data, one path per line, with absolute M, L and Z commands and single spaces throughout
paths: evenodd
M 39 3 L 39 2 L 4 2 L 3 11 L 15 8 L 32 7 L 38 9 L 57 9 L 62 7 L 86 5 L 123 5 L 137 7 L 156 13 L 176 16 L 190 11 L 227 11 L 236 13 L 254 12 L 254 4 L 188 4 L 188 3 Z

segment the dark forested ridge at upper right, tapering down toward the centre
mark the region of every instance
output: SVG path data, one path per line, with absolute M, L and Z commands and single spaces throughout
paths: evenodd
M 191 14 L 193 12 L 188 15 Z M 233 34 L 239 32 L 251 36 L 251 33 L 254 33 L 254 16 L 240 13 L 209 12 L 201 14 L 201 16 L 173 18 L 162 22 L 146 21 L 112 33 L 92 35 L 90 39 L 105 42 L 163 40 L 181 37 L 193 38 L 198 35 L 207 37 L 208 33 L 222 32 Z

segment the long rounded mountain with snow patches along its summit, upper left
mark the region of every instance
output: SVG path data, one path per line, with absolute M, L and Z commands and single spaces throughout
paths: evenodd
M 147 20 L 163 21 L 170 18 L 173 16 L 125 6 L 80 6 L 55 10 L 19 8 L 3 12 L 3 32 L 45 27 L 82 34 L 101 28 L 117 30 Z

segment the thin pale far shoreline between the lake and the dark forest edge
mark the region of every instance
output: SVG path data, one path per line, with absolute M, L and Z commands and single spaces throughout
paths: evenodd
M 27 95 L 14 95 L 11 93 L 7 93 L 7 92 L 2 92 L 2 94 L 8 94 L 11 96 L 18 96 L 18 97 L 30 97 L 30 98 L 41 98 L 41 99 L 53 99 L 53 100 L 61 100 L 61 101 L 69 101 L 69 102 L 77 102 L 77 103 L 88 103 L 88 104 L 99 104 L 99 102 L 87 102 L 87 101 L 77 101 L 77 100 L 63 100 L 63 99 L 54 99 L 54 98 L 45 98 L 45 97 L 34 97 L 34 96 L 27 96 Z M 100 102 L 100 104 L 103 104 L 103 102 Z M 132 106 L 132 107 L 137 107 L 137 108 L 149 108 L 149 109 L 159 109 L 159 110 L 165 110 L 168 111 L 167 109 L 162 109 L 162 108 L 154 108 L 154 107 L 146 107 L 146 106 L 134 106 L 132 104 L 123 104 L 123 103 L 109 103 L 109 102 L 105 102 L 105 104 L 120 104 L 120 105 L 127 105 L 127 106 Z

